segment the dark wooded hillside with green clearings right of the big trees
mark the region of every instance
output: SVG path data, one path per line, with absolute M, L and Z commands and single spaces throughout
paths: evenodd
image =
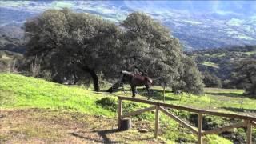
M 247 80 L 242 80 L 243 76 L 236 72 L 236 65 L 245 59 L 254 60 L 256 58 L 255 51 L 256 46 L 234 46 L 193 51 L 187 54 L 197 62 L 198 70 L 206 78 L 204 80 L 206 86 L 220 86 L 218 84 L 218 79 L 220 79 L 224 88 L 248 89 L 246 91 L 250 91 L 251 86 L 247 86 Z

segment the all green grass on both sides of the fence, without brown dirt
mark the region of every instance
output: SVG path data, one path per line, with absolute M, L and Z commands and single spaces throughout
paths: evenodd
M 39 78 L 25 77 L 18 74 L 0 74 L 0 109 L 47 108 L 92 115 L 105 115 L 109 118 L 115 118 L 118 103 L 117 95 L 130 97 L 130 90 L 128 91 L 124 93 L 121 90 L 114 94 L 105 92 L 97 93 L 90 89 L 86 90 L 82 86 L 64 86 Z M 138 91 L 139 94 L 136 98 L 146 99 L 146 95 L 143 94 L 145 90 L 138 89 Z M 241 104 L 237 102 L 237 99 L 242 98 L 243 110 L 256 110 L 254 107 L 256 100 L 244 98 L 242 93 L 243 90 L 206 89 L 206 95 L 204 96 L 196 96 L 193 94 L 177 95 L 167 89 L 166 102 L 180 106 L 240 113 L 242 112 L 239 111 Z M 110 101 L 107 98 L 110 98 Z M 222 99 L 223 102 L 220 102 L 220 99 Z M 227 102 L 227 99 L 229 99 L 230 102 Z M 153 100 L 162 101 L 162 87 L 154 86 Z M 147 105 L 134 102 L 124 102 L 125 111 L 136 110 L 146 106 Z M 182 118 L 187 117 L 187 113 L 182 113 L 181 111 L 176 111 L 175 113 L 180 116 L 183 114 Z M 154 128 L 154 114 L 148 112 L 136 117 L 136 119 L 150 121 L 151 126 Z M 221 120 L 220 122 L 223 121 Z M 167 118 L 164 114 L 161 114 L 160 126 L 162 129 L 162 137 L 172 142 L 177 142 L 180 138 L 185 138 L 186 142 L 196 141 L 196 137 L 193 134 L 190 134 L 185 128 L 178 126 L 177 122 Z M 218 136 L 208 136 L 205 140 L 210 143 L 230 142 Z

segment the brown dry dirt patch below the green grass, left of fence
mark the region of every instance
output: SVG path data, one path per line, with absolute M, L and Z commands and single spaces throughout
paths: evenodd
M 138 130 L 118 132 L 116 120 L 59 110 L 1 110 L 0 143 L 163 143 Z M 142 123 L 142 122 L 140 122 Z M 143 122 L 145 123 L 145 122 Z

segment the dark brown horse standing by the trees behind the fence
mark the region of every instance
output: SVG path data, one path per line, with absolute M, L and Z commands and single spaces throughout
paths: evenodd
M 150 99 L 150 86 L 152 85 L 153 80 L 145 75 L 133 74 L 129 71 L 122 70 L 120 72 L 122 74 L 121 82 L 128 82 L 130 84 L 132 90 L 132 97 L 135 98 L 136 94 L 136 86 L 145 86 L 148 94 L 148 100 Z

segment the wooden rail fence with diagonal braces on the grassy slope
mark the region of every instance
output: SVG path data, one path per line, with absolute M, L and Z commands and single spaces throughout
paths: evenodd
M 132 102 L 142 102 L 154 106 L 150 106 L 148 108 L 142 109 L 142 110 L 137 110 L 134 112 L 122 114 L 122 101 L 132 101 Z M 178 118 L 174 114 L 171 114 L 166 108 L 170 109 L 176 109 L 176 110 L 186 110 L 189 112 L 194 112 L 198 114 L 198 128 L 194 126 L 190 126 L 189 123 L 182 121 L 182 119 Z M 158 138 L 158 130 L 159 130 L 159 111 L 162 111 L 162 113 L 166 114 L 170 118 L 174 119 L 176 122 L 178 122 L 180 125 L 186 127 L 187 129 L 191 130 L 194 134 L 198 136 L 198 143 L 202 143 L 202 137 L 205 136 L 206 134 L 219 134 L 222 133 L 226 130 L 230 130 L 233 128 L 238 128 L 238 127 L 247 127 L 247 143 L 251 144 L 252 143 L 252 126 L 256 126 L 256 118 L 251 117 L 251 116 L 246 116 L 246 115 L 240 115 L 240 114 L 225 114 L 225 113 L 220 113 L 216 111 L 210 111 L 210 110 L 200 110 L 200 109 L 194 109 L 186 106 L 175 106 L 171 104 L 166 104 L 162 102 L 153 102 L 153 101 L 147 101 L 143 99 L 138 99 L 138 98 L 128 98 L 128 97 L 118 97 L 118 129 L 121 126 L 121 120 L 122 118 L 134 116 L 137 114 L 142 114 L 143 112 L 146 111 L 151 111 L 155 110 L 155 128 L 154 128 L 154 137 Z M 238 118 L 241 119 L 242 122 L 238 122 L 235 124 L 232 124 L 230 126 L 223 126 L 222 128 L 217 128 L 214 130 L 202 130 L 202 116 L 203 114 L 209 114 L 209 115 L 214 115 L 214 116 L 220 116 L 220 117 L 226 117 L 226 118 Z

